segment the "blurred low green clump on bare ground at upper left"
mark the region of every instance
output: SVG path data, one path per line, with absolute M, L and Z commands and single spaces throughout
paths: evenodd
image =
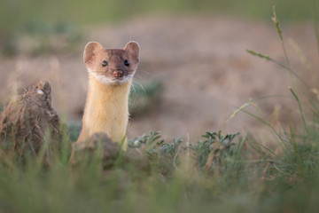
M 43 20 L 26 22 L 4 38 L 0 48 L 4 56 L 17 54 L 35 57 L 43 54 L 62 55 L 74 51 L 82 32 L 70 24 L 47 24 Z

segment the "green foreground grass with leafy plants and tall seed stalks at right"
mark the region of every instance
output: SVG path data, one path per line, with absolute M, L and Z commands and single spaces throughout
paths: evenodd
M 300 88 L 288 58 L 279 65 L 292 77 L 302 122 L 278 130 L 253 100 L 236 112 L 266 124 L 276 147 L 249 134 L 208 131 L 198 141 L 163 141 L 150 132 L 128 143 L 142 158 L 128 161 L 120 154 L 106 160 L 113 161 L 107 169 L 99 148 L 71 166 L 67 139 L 51 154 L 50 166 L 43 166 L 41 154 L 22 163 L 2 151 L 0 212 L 317 212 L 318 100 Z M 247 105 L 260 113 L 246 111 Z

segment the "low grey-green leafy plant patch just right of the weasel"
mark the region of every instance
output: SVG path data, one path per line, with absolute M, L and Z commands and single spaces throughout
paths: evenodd
M 147 154 L 152 162 L 156 162 L 161 168 L 163 175 L 170 174 L 185 157 L 185 154 L 191 152 L 194 165 L 198 171 L 218 169 L 222 166 L 223 160 L 233 154 L 231 146 L 235 145 L 233 139 L 239 133 L 227 134 L 222 136 L 222 131 L 206 131 L 196 143 L 183 143 L 183 139 L 173 138 L 171 143 L 166 143 L 158 131 L 144 134 L 139 138 L 134 138 L 128 142 L 131 148 L 140 149 Z

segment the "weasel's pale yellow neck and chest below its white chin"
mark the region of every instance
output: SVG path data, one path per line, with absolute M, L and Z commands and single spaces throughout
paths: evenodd
M 113 85 L 101 83 L 89 74 L 89 91 L 78 141 L 87 140 L 96 132 L 105 132 L 114 142 L 126 142 L 130 86 L 131 80 Z

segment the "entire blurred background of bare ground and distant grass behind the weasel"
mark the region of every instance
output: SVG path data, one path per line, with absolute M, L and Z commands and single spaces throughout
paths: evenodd
M 316 89 L 317 0 L 277 0 L 276 13 L 293 71 Z M 131 92 L 129 138 L 150 130 L 164 138 L 198 138 L 206 130 L 263 130 L 247 114 L 230 118 L 249 99 L 274 123 L 294 119 L 290 75 L 249 55 L 285 62 L 272 0 L 0 0 L 0 107 L 40 80 L 53 106 L 81 128 L 88 76 L 82 51 L 89 41 L 141 46 Z M 315 91 L 315 90 L 314 90 Z M 248 107 L 252 110 L 253 107 Z

